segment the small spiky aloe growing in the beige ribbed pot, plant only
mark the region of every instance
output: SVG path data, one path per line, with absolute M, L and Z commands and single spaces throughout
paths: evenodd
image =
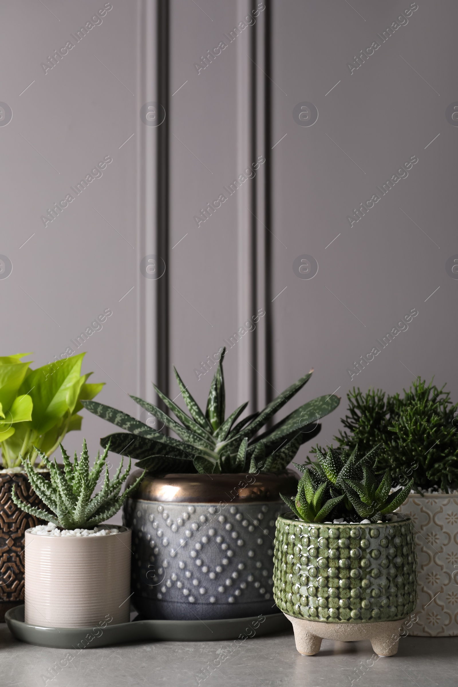
M 51 510 L 51 513 L 24 503 L 13 489 L 11 498 L 14 504 L 25 510 L 25 513 L 52 522 L 65 530 L 92 528 L 104 520 L 108 520 L 108 518 L 117 513 L 125 499 L 135 491 L 144 477 L 143 473 L 134 484 L 119 495 L 122 484 L 124 484 L 130 472 L 130 459 L 124 473 L 122 473 L 123 459 L 115 477 L 113 480 L 110 480 L 106 464 L 108 449 L 109 446 L 106 447 L 102 455 L 98 453 L 91 470 L 89 469 L 89 453 L 85 439 L 82 444 L 80 460 L 78 460 L 75 452 L 73 462 L 71 462 L 67 451 L 60 444 L 64 463 L 63 470 L 55 459 L 54 462 L 51 462 L 45 453 L 41 453 L 39 449 L 36 449 L 41 460 L 49 469 L 51 482 L 34 470 L 29 458 L 23 458 L 23 465 L 34 491 L 45 506 Z M 102 489 L 91 498 L 103 469 L 105 469 L 105 475 Z

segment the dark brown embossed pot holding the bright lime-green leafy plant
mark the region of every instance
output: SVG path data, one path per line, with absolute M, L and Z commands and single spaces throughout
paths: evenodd
M 43 523 L 14 505 L 12 488 L 21 501 L 43 508 L 25 473 L 0 473 L 0 622 L 24 602 L 24 532 Z

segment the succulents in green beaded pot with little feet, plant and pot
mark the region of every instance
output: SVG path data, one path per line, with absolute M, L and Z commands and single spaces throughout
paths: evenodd
M 321 640 L 371 640 L 378 655 L 398 651 L 399 628 L 417 601 L 413 526 L 391 515 L 411 482 L 391 492 L 389 471 L 374 475 L 375 447 L 317 450 L 304 472 L 291 515 L 277 519 L 274 598 L 293 623 L 299 653 L 313 655 Z

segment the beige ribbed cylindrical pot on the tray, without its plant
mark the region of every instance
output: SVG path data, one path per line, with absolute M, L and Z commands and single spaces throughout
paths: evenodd
M 130 530 L 104 537 L 25 532 L 25 622 L 87 627 L 128 622 Z

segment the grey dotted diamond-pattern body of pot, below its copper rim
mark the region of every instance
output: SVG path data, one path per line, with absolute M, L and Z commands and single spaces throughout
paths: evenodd
M 273 544 L 279 502 L 186 504 L 127 499 L 133 605 L 168 620 L 275 613 Z

